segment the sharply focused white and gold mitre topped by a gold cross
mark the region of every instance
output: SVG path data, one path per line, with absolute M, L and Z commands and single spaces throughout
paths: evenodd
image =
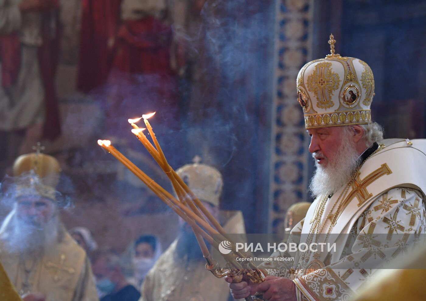
M 303 108 L 305 128 L 360 125 L 371 122 L 374 77 L 371 68 L 354 57 L 331 54 L 308 62 L 297 75 L 297 99 Z

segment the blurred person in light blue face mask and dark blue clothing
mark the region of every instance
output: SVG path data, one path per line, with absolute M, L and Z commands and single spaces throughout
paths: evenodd
M 124 276 L 120 258 L 109 249 L 92 255 L 93 274 L 101 301 L 137 301 L 141 294 Z

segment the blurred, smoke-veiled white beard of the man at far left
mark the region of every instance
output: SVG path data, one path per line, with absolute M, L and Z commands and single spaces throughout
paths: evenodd
M 28 224 L 17 218 L 16 210 L 12 210 L 0 228 L 0 240 L 9 253 L 21 253 L 32 256 L 33 252 L 52 250 L 58 243 L 60 222 L 54 216 L 41 227 Z

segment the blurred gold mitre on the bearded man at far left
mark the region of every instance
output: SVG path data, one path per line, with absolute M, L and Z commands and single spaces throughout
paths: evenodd
M 43 153 L 19 156 L 13 164 L 13 174 L 18 179 L 17 196 L 40 195 L 55 200 L 60 165 L 54 157 Z

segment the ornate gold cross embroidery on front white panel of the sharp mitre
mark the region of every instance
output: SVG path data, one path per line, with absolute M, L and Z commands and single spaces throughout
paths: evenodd
M 339 88 L 339 74 L 331 70 L 331 62 L 320 62 L 315 65 L 314 72 L 308 76 L 308 90 L 314 92 L 317 98 L 317 107 L 331 108 L 333 91 Z

